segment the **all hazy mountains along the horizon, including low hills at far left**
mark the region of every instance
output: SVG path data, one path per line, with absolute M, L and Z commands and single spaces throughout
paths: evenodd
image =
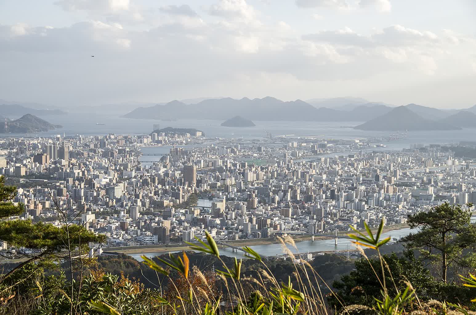
M 27 107 L 28 104 L 31 107 Z M 131 108 L 135 108 L 132 111 Z M 403 109 L 404 108 L 404 109 Z M 83 106 L 72 112 L 123 115 L 137 119 L 211 119 L 227 120 L 241 116 L 254 121 L 367 121 L 356 128 L 363 130 L 434 130 L 471 128 L 475 125 L 476 105 L 466 109 L 438 109 L 408 104 L 394 107 L 364 98 L 314 98 L 307 102 L 282 101 L 277 98 L 193 98 L 166 104 L 122 103 Z M 58 108 L 47 109 L 37 103 L 0 100 L 0 119 L 31 115 L 67 114 Z M 1 125 L 1 124 L 0 124 Z M 438 126 L 438 127 L 435 127 Z M 475 126 L 476 127 L 476 126 Z

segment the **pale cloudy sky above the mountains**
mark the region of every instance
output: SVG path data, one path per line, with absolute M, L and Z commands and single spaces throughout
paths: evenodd
M 0 0 L 0 98 L 468 108 L 474 16 L 474 0 Z

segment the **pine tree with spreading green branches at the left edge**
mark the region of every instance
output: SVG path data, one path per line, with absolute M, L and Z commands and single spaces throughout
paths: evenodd
M 83 255 L 89 252 L 89 243 L 104 241 L 105 236 L 96 235 L 83 226 L 72 224 L 54 226 L 43 222 L 12 219 L 11 217 L 25 211 L 22 204 L 15 205 L 12 202 L 15 192 L 16 187 L 5 186 L 4 177 L 0 177 L 0 240 L 6 242 L 10 248 L 0 250 L 0 255 L 26 260 L 5 274 L 1 281 L 5 281 L 13 272 L 37 260 L 53 262 L 82 259 Z

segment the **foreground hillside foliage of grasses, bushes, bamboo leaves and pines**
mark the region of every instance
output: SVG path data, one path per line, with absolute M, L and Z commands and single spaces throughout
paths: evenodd
M 2 186 L 0 180 L 3 196 L 0 210 L 9 216 L 22 211 L 21 205 L 10 203 L 13 192 Z M 185 252 L 168 257 L 142 256 L 140 264 L 121 257 L 104 261 L 99 258 L 99 262 L 86 260 L 81 253 L 88 248 L 87 242 L 100 241 L 102 236 L 71 224 L 67 212 L 58 212 L 64 218 L 61 227 L 19 220 L 0 222 L 0 238 L 16 246 L 39 250 L 36 256 L 0 275 L 0 315 L 476 314 L 472 311 L 476 304 L 476 276 L 463 273 L 465 276 L 452 283 L 441 281 L 424 266 L 425 251 L 420 257 L 410 251 L 404 256 L 382 255 L 380 249 L 390 239 L 381 239 L 383 221 L 376 234 L 365 224 L 367 234 L 356 230 L 351 235 L 362 258 L 355 261 L 354 271 L 330 286 L 329 275 L 320 275 L 320 271 L 326 273 L 326 263 L 322 264 L 322 260 L 316 263 L 319 261 L 316 259 L 311 264 L 297 259 L 288 249 L 295 246 L 290 237 L 279 238 L 290 256 L 283 263 L 264 259 L 247 246 L 242 248 L 251 258 L 247 262 L 220 256 L 216 242 L 208 233 L 205 241 L 198 239 L 198 243 L 189 244 L 207 254 L 201 256 L 201 261 L 199 257 L 190 259 Z M 447 205 L 436 208 L 435 212 L 439 217 L 446 216 L 447 226 L 456 222 L 459 231 L 448 230 L 447 235 L 441 236 L 445 244 L 460 244 L 448 250 L 446 258 L 465 253 L 472 240 L 468 236 L 472 227 L 469 222 L 465 224 L 466 213 Z M 438 222 L 433 213 L 414 218 L 413 222 L 430 218 L 431 222 Z M 441 227 L 434 223 L 418 224 L 424 225 L 421 232 L 425 235 Z M 463 233 L 466 243 L 458 243 L 460 236 L 456 233 Z M 409 247 L 417 246 L 422 235 L 408 238 Z M 368 257 L 361 246 L 370 248 L 375 256 Z M 73 259 L 73 255 L 78 256 Z M 59 265 L 48 267 L 61 267 L 60 271 L 47 273 L 45 261 L 58 262 Z M 108 268 L 106 262 L 111 264 L 109 267 L 118 265 L 121 271 L 139 271 L 140 280 L 124 273 L 117 275 L 91 268 L 94 265 Z M 213 266 L 214 271 L 198 267 L 202 263 Z M 339 261 L 329 261 L 329 266 L 345 268 Z

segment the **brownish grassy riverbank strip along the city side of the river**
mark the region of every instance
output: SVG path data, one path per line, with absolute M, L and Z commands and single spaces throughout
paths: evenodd
M 407 224 L 399 224 L 399 225 L 393 225 L 393 226 L 386 226 L 383 229 L 383 233 L 390 232 L 390 231 L 395 231 L 399 230 L 402 228 L 407 228 Z M 375 232 L 377 228 L 373 228 L 372 231 Z M 365 230 L 364 230 L 365 232 Z M 350 231 L 346 231 L 345 233 L 339 233 L 339 235 L 347 235 L 347 234 L 352 234 Z M 364 234 L 367 234 L 365 232 Z M 293 240 L 294 242 L 301 242 L 301 241 L 310 241 L 311 236 L 307 235 L 293 235 Z M 326 239 L 332 239 L 332 236 L 315 236 L 314 241 L 320 241 L 320 240 L 326 240 Z M 251 238 L 251 239 L 240 239 L 236 241 L 227 241 L 227 244 L 237 246 L 237 247 L 242 247 L 242 246 L 262 246 L 262 245 L 271 245 L 271 244 L 279 244 L 279 241 L 277 238 Z M 224 246 L 218 246 L 218 247 L 224 247 Z M 148 253 L 148 252 L 154 252 L 154 253 L 168 253 L 168 252 L 177 252 L 181 250 L 191 250 L 190 246 L 188 244 L 169 244 L 169 245 L 150 245 L 150 246 L 130 246 L 130 247 L 108 247 L 104 248 L 106 251 L 110 252 L 117 252 L 121 254 L 127 254 L 127 255 L 134 255 L 134 254 L 141 254 L 141 253 Z

